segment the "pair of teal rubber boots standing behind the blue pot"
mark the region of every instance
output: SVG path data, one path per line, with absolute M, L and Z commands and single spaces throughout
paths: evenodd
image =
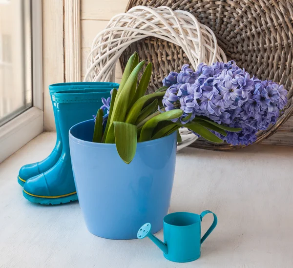
M 77 200 L 69 151 L 69 129 L 92 119 L 103 105 L 101 98 L 119 84 L 111 82 L 58 83 L 49 86 L 55 117 L 57 142 L 41 162 L 21 167 L 18 182 L 23 196 L 34 203 L 58 205 Z

